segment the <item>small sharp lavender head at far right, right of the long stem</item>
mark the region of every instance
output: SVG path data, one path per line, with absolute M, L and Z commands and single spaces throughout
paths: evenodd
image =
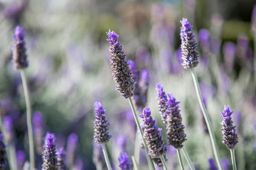
M 237 134 L 235 134 L 235 126 L 233 126 L 233 121 L 231 120 L 231 114 L 229 106 L 224 106 L 224 110 L 220 112 L 223 116 L 222 118 L 222 142 L 227 145 L 228 149 L 235 149 L 238 143 Z

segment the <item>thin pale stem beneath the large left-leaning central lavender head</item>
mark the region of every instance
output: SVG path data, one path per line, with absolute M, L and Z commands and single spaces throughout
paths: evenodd
M 146 140 L 145 138 L 143 137 L 143 131 L 142 131 L 142 128 L 141 128 L 141 125 L 140 125 L 140 121 L 139 121 L 139 118 L 138 118 L 138 115 L 136 114 L 136 110 L 135 110 L 135 107 L 133 105 L 133 102 L 131 100 L 131 97 L 128 98 L 129 99 L 129 102 L 130 102 L 130 105 L 131 105 L 131 109 L 132 109 L 132 113 L 133 113 L 133 116 L 134 116 L 134 119 L 135 119 L 135 122 L 137 124 L 137 127 L 139 128 L 139 132 L 140 132 L 140 135 L 141 135 L 141 139 L 142 139 L 142 142 L 143 142 L 143 145 L 145 147 L 145 150 L 146 150 L 146 153 L 148 153 L 148 148 L 147 148 L 147 145 L 146 145 Z M 154 166 L 154 163 L 152 161 L 152 158 L 150 155 L 146 154 L 147 157 L 148 157 L 148 160 L 149 160 L 149 163 L 152 167 L 153 170 L 155 170 L 155 166 Z M 150 166 L 149 165 L 149 166 Z

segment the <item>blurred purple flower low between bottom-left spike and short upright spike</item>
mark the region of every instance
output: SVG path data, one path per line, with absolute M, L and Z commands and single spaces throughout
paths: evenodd
M 72 133 L 68 136 L 67 139 L 67 164 L 71 167 L 74 163 L 74 156 L 77 147 L 78 136 L 75 133 Z

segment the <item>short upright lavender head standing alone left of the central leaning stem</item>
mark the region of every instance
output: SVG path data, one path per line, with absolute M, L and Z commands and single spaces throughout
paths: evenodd
M 108 126 L 110 123 L 107 120 L 107 116 L 105 115 L 105 110 L 100 102 L 94 103 L 95 107 L 95 121 L 94 123 L 94 141 L 96 143 L 108 143 L 110 138 Z

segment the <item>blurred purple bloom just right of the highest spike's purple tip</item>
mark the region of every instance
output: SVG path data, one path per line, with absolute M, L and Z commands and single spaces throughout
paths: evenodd
M 201 50 L 204 53 L 210 50 L 210 32 L 207 29 L 201 29 L 198 32 L 198 40 Z

